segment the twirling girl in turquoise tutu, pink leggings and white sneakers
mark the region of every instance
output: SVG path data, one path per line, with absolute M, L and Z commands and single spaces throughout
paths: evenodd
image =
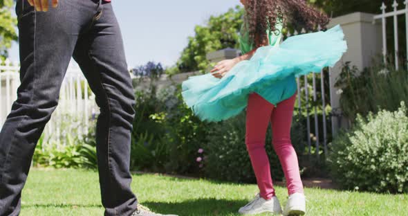
M 259 195 L 239 209 L 244 215 L 281 213 L 265 151 L 271 123 L 273 147 L 286 177 L 289 199 L 284 215 L 304 215 L 306 201 L 297 155 L 290 143 L 295 105 L 295 77 L 333 66 L 346 51 L 340 26 L 326 32 L 281 41 L 284 21 L 295 28 L 326 26 L 328 17 L 304 0 L 241 0 L 245 21 L 241 32 L 243 55 L 219 62 L 207 75 L 183 82 L 183 98 L 202 120 L 225 120 L 247 107 L 246 137 Z

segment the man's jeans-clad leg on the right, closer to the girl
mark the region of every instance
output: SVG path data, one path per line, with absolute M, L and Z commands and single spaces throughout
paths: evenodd
M 134 95 L 124 47 L 111 3 L 100 6 L 89 32 L 80 37 L 74 59 L 100 107 L 97 152 L 105 215 L 131 215 L 137 199 L 129 172 Z

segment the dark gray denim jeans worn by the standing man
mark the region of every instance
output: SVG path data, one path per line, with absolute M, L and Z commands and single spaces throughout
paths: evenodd
M 58 8 L 35 12 L 18 0 L 16 11 L 21 86 L 0 133 L 0 215 L 19 215 L 35 145 L 57 107 L 71 57 L 100 107 L 96 139 L 105 215 L 131 215 L 137 206 L 129 172 L 134 96 L 111 3 L 60 0 Z

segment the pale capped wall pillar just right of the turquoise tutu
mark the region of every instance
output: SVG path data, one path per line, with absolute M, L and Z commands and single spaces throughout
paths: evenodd
M 329 28 L 340 24 L 344 30 L 344 35 L 349 46 L 348 51 L 342 57 L 330 73 L 330 97 L 331 107 L 335 111 L 332 117 L 333 135 L 340 127 L 348 127 L 349 120 L 336 116 L 340 111 L 340 95 L 334 84 L 342 71 L 342 64 L 351 62 L 351 66 L 357 66 L 360 71 L 371 66 L 373 57 L 382 53 L 382 28 L 381 23 L 373 22 L 371 14 L 355 12 L 331 20 Z

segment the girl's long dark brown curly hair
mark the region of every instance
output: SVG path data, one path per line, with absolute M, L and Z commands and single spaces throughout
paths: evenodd
M 306 0 L 247 0 L 245 24 L 248 35 L 256 46 L 267 44 L 266 30 L 277 31 L 276 24 L 285 20 L 295 29 L 315 30 L 319 25 L 326 28 L 328 16 Z

